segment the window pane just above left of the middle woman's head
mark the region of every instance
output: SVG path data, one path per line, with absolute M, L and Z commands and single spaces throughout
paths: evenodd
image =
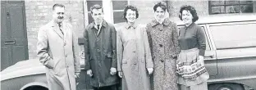
M 128 5 L 127 0 L 125 1 L 113 1 L 113 10 L 123 10 Z

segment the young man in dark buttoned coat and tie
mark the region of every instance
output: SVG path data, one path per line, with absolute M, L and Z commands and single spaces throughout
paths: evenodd
M 103 7 L 90 8 L 94 22 L 84 32 L 85 70 L 94 90 L 116 90 L 117 33 L 113 25 L 103 20 Z

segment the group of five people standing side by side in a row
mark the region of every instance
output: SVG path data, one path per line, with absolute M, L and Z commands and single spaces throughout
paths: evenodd
M 71 25 L 63 21 L 65 7 L 53 6 L 53 20 L 39 29 L 39 61 L 46 66 L 50 90 L 75 90 L 79 77 L 77 38 Z M 194 7 L 183 6 L 178 29 L 167 18 L 167 5 L 154 5 L 154 20 L 137 23 L 139 11 L 128 5 L 126 23 L 116 29 L 103 19 L 103 7 L 90 8 L 94 22 L 84 31 L 85 71 L 94 90 L 207 90 L 208 72 L 204 67 L 205 36 L 194 22 Z

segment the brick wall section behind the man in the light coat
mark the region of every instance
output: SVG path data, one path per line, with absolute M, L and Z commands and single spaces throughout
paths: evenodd
M 26 28 L 30 59 L 36 57 L 37 33 L 42 25 L 52 20 L 52 8 L 55 3 L 62 3 L 66 7 L 66 21 L 73 25 L 75 34 L 82 35 L 84 29 L 83 0 L 38 1 L 25 0 Z

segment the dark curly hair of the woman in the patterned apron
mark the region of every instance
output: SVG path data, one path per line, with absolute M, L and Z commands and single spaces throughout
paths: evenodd
M 189 5 L 182 6 L 180 9 L 180 15 L 179 18 L 182 20 L 182 11 L 190 11 L 191 15 L 193 16 L 192 21 L 195 22 L 196 20 L 199 20 L 199 16 L 197 15 L 194 7 L 191 7 Z

